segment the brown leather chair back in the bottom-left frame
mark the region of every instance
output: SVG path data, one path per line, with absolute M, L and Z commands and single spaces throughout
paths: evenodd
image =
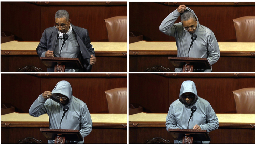
M 105 93 L 109 113 L 127 114 L 127 88 L 115 88 Z

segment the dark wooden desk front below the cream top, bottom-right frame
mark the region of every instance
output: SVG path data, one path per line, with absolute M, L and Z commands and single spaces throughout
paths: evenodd
M 139 124 L 138 124 L 139 125 Z M 165 123 L 163 124 L 153 124 L 155 126 L 142 126 L 138 127 L 132 124 L 129 124 L 129 143 L 131 144 L 144 144 L 147 140 L 151 140 L 156 137 L 161 137 L 165 140 L 169 140 L 170 143 L 173 143 L 174 140 L 172 136 L 166 131 Z M 229 124 L 232 125 L 232 124 Z M 230 134 L 236 133 L 236 134 Z M 209 132 L 211 137 L 210 144 L 241 144 L 241 143 L 255 143 L 255 129 L 247 127 L 223 127 L 220 124 L 220 127 L 214 131 Z M 221 135 L 221 136 L 220 136 Z

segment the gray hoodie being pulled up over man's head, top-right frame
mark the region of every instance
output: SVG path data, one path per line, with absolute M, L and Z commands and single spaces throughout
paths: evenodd
M 192 12 L 197 18 L 196 14 L 187 7 L 187 10 Z M 159 26 L 159 30 L 169 36 L 173 36 L 176 39 L 177 57 L 188 57 L 188 50 L 191 44 L 191 34 L 185 31 L 182 23 L 175 23 L 180 13 L 174 10 L 170 13 Z M 214 64 L 220 58 L 220 48 L 218 42 L 214 36 L 214 33 L 207 27 L 200 25 L 197 18 L 197 28 L 193 33 L 197 35 L 197 39 L 193 42 L 190 48 L 189 57 L 193 58 L 207 58 L 210 65 Z M 175 72 L 181 72 L 182 69 L 175 68 Z M 211 69 L 196 71 L 211 72 Z

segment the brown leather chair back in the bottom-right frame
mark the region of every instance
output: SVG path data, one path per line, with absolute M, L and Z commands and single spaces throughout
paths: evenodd
M 243 88 L 233 93 L 237 113 L 255 113 L 255 88 Z

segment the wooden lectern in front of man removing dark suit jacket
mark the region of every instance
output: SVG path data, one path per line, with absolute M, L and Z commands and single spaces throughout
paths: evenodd
M 54 72 L 65 72 L 65 69 L 83 69 L 79 58 L 40 57 L 46 68 L 54 68 Z

